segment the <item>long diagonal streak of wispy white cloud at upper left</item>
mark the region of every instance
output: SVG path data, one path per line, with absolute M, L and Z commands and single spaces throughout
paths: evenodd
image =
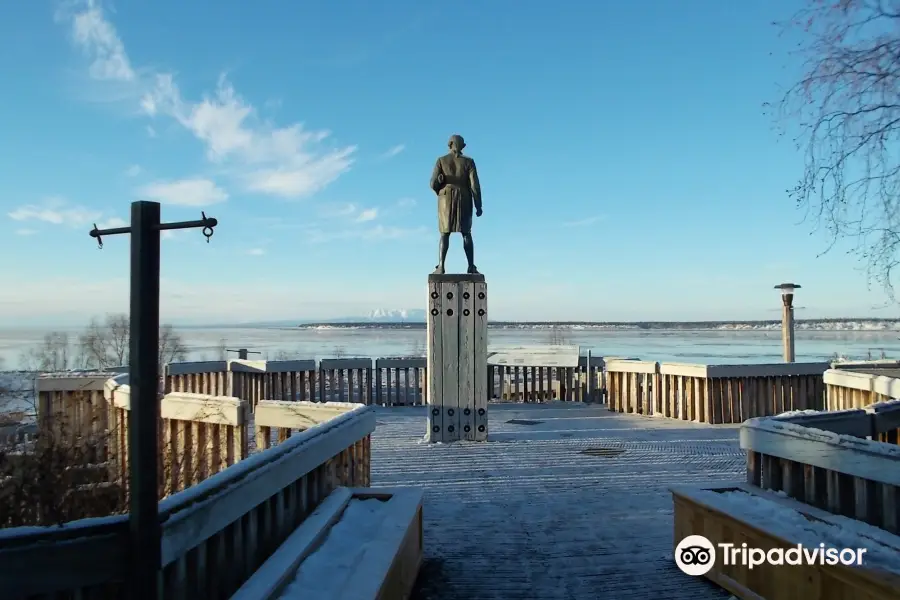
M 262 120 L 224 76 L 213 94 L 191 102 L 182 97 L 172 74 L 141 75 L 94 1 L 77 5 L 61 19 L 71 26 L 74 44 L 91 58 L 91 76 L 129 82 L 140 94 L 141 113 L 174 119 L 205 144 L 211 162 L 228 167 L 247 191 L 302 198 L 322 190 L 353 164 L 355 146 L 326 146 L 326 130 L 307 130 L 299 123 L 277 127 Z M 148 129 L 151 137 L 155 133 Z

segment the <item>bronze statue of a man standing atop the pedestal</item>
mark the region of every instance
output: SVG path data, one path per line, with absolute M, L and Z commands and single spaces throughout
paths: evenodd
M 475 216 L 480 217 L 481 184 L 475 161 L 463 156 L 466 142 L 461 135 L 450 136 L 447 144 L 450 152 L 437 159 L 431 173 L 431 189 L 438 196 L 438 230 L 441 241 L 438 248 L 440 262 L 435 267 L 435 275 L 444 274 L 444 261 L 450 247 L 450 234 L 459 232 L 463 236 L 463 250 L 469 261 L 468 273 L 478 273 L 475 268 L 475 245 L 472 243 L 472 207 Z

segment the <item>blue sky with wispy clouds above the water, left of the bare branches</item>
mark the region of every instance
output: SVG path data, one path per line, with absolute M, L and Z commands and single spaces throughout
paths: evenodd
M 127 237 L 87 232 L 138 199 L 221 223 L 163 240 L 165 320 L 420 307 L 453 133 L 496 319 L 775 318 L 791 280 L 800 317 L 895 316 L 784 191 L 793 4 L 4 2 L 0 325 L 127 309 Z

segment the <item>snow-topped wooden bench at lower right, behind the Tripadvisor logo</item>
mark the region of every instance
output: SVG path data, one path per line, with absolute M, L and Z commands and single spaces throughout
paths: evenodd
M 742 492 L 761 502 L 758 509 L 743 509 L 737 504 L 746 502 L 726 501 L 727 496 L 717 498 L 712 494 Z M 711 494 L 712 493 L 712 494 Z M 803 504 L 797 500 L 742 484 L 728 488 L 687 489 L 673 488 L 675 504 L 675 547 L 689 535 L 700 535 L 716 545 L 713 568 L 706 577 L 738 598 L 746 600 L 896 600 L 900 598 L 900 575 L 882 567 L 900 565 L 900 537 L 862 522 L 849 523 L 846 517 L 837 517 L 824 510 Z M 765 504 L 766 502 L 772 504 Z M 788 524 L 785 510 L 796 511 L 808 522 L 816 523 L 817 531 L 834 527 L 843 532 L 841 544 L 846 547 L 865 548 L 862 566 L 842 564 L 770 565 L 763 563 L 750 569 L 746 565 L 723 564 L 720 543 L 746 543 L 749 548 L 768 552 L 773 548 L 816 549 L 810 536 L 793 529 Z M 858 523 L 858 526 L 857 526 Z M 851 525 L 853 525 L 851 527 Z M 848 535 L 849 534 L 849 535 Z M 836 535 L 836 532 L 835 532 Z M 824 533 L 822 534 L 824 538 Z M 806 539 L 799 539 L 805 537 Z M 856 538 L 856 540 L 854 540 Z M 825 539 L 819 540 L 826 542 Z M 857 544 L 853 544 L 857 541 Z M 829 545 L 826 543 L 826 545 Z M 835 544 L 836 545 L 836 544 Z

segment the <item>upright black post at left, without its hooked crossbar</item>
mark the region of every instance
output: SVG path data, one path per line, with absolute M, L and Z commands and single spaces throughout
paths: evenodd
M 131 205 L 131 347 L 128 424 L 131 597 L 158 600 L 159 204 Z

